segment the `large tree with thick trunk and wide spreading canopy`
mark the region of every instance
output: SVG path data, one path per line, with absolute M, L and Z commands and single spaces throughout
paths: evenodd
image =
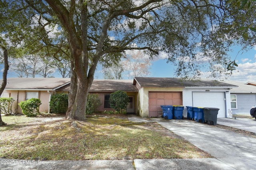
M 241 10 L 234 3 L 1 0 L 1 17 L 6 20 L 1 31 L 16 49 L 26 47 L 31 54 L 46 49 L 50 57 L 68 54 L 71 90 L 66 117 L 84 120 L 97 64 L 119 61 L 126 50 L 143 50 L 150 58 L 164 53 L 178 66 L 177 76 L 185 78 L 197 77 L 202 70 L 212 76 L 230 74 L 227 66 L 234 64 L 227 55 L 230 47 L 238 43 L 247 48 L 256 42 L 252 29 L 241 29 L 255 27 L 255 10 Z

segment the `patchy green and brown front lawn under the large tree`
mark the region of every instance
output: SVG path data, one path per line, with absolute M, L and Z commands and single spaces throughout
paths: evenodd
M 209 158 L 211 155 L 157 123 L 117 117 L 90 117 L 86 122 L 51 122 L 3 116 L 0 157 L 40 160 L 112 160 Z

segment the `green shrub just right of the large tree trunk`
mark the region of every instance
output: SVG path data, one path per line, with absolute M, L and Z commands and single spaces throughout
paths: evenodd
M 88 94 L 87 104 L 86 104 L 86 114 L 92 114 L 101 105 L 100 98 L 98 94 Z

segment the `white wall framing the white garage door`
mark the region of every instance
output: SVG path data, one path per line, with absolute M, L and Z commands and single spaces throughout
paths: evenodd
M 206 90 L 210 90 L 210 92 L 224 92 L 225 94 L 225 114 L 226 117 L 228 117 L 228 111 L 231 110 L 231 104 L 230 104 L 230 92 L 226 88 L 184 88 L 183 89 L 183 105 L 184 106 L 193 106 L 192 101 L 192 93 L 193 92 L 206 92 Z M 187 109 L 184 107 L 183 111 L 184 117 L 187 116 Z

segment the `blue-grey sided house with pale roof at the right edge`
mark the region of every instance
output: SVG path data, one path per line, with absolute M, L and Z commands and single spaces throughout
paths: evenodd
M 228 81 L 229 84 L 234 84 L 238 88 L 230 90 L 230 102 L 232 114 L 250 114 L 252 106 L 256 105 L 256 86 L 248 82 Z

